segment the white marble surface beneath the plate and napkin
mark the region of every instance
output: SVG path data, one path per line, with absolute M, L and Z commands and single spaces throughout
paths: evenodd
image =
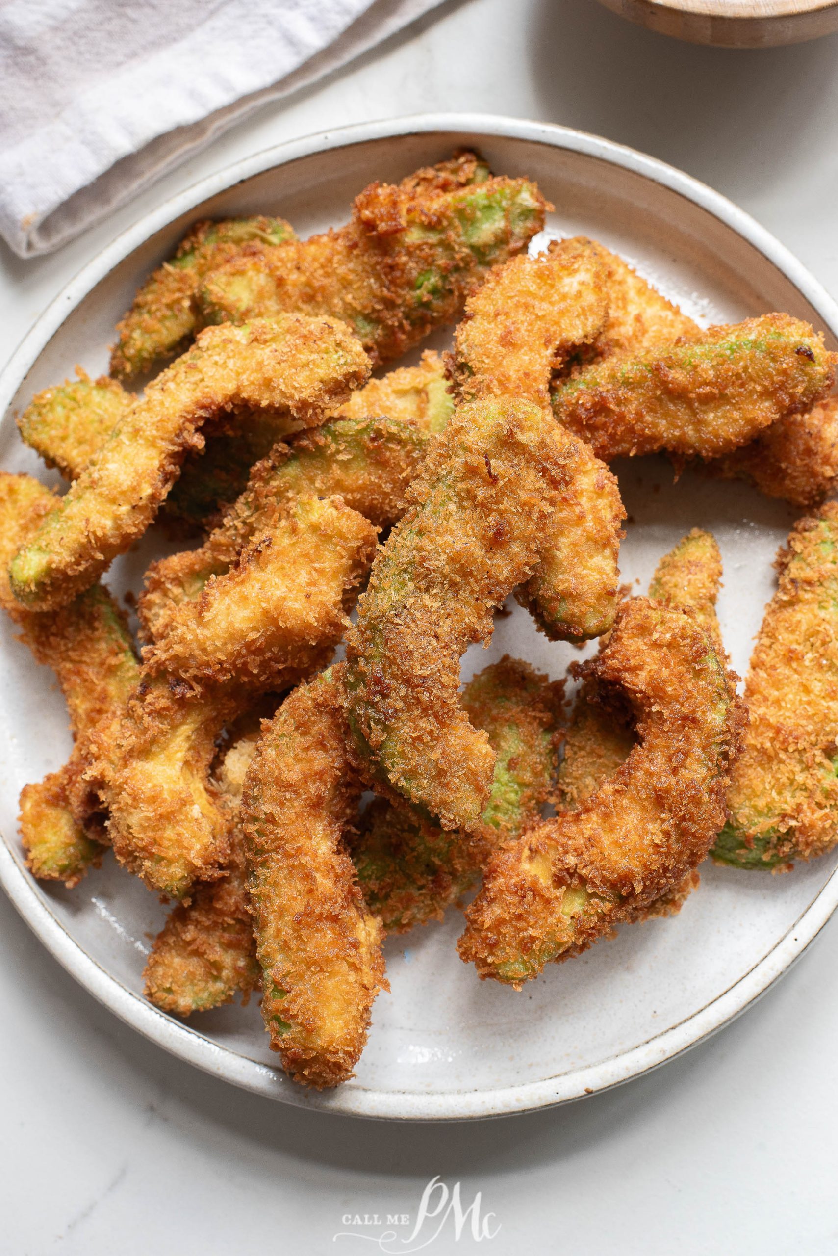
M 425 109 L 567 123 L 671 161 L 750 210 L 838 295 L 837 53 L 838 36 L 761 53 L 691 48 L 592 0 L 445 5 L 56 256 L 0 252 L 0 357 L 166 193 L 281 139 Z M 103 1011 L 5 901 L 0 939 L 3 1256 L 375 1251 L 335 1241 L 342 1218 L 415 1217 L 435 1174 L 462 1183 L 465 1206 L 482 1192 L 491 1232 L 501 1227 L 479 1245 L 489 1256 L 838 1247 L 834 922 L 761 1004 L 656 1074 L 557 1112 L 459 1127 L 335 1119 L 240 1093 Z M 475 1246 L 468 1226 L 457 1241 L 448 1223 L 424 1250 Z

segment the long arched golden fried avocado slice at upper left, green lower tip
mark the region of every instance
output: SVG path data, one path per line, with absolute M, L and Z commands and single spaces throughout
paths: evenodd
M 260 407 L 287 413 L 289 430 L 312 426 L 368 373 L 337 320 L 286 315 L 207 329 L 149 384 L 13 559 L 15 595 L 45 610 L 90 584 L 146 531 L 211 416 Z

